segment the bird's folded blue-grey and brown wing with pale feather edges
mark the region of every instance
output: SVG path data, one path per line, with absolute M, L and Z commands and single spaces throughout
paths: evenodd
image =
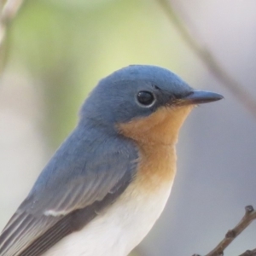
M 102 146 L 97 157 L 94 152 L 85 160 L 80 156 L 73 159 L 76 152 L 62 151 L 57 151 L 3 230 L 0 256 L 38 256 L 64 236 L 82 229 L 122 194 L 137 166 L 137 152 L 131 148 Z M 58 157 L 63 162 L 63 154 L 65 164 L 59 166 Z M 62 175 L 55 177 L 58 168 Z M 65 183 L 63 176 L 67 176 Z

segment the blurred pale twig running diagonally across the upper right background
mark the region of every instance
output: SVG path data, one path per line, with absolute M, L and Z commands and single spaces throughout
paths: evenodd
M 169 0 L 157 1 L 160 3 L 161 8 L 166 12 L 169 20 L 171 20 L 172 23 L 177 27 L 177 30 L 180 32 L 184 41 L 189 44 L 189 47 L 193 49 L 195 54 L 207 65 L 209 70 L 219 79 L 224 87 L 230 90 L 230 92 L 236 96 L 236 99 L 241 102 L 241 104 L 247 108 L 250 113 L 253 114 L 254 118 L 256 118 L 256 100 L 253 98 L 253 96 L 250 96 L 247 90 L 244 90 L 243 86 L 224 70 L 224 67 L 218 63 L 209 49 L 201 45 L 190 34 L 189 29 L 184 25 L 183 20 L 180 20 L 180 17 L 172 9 L 172 3 Z

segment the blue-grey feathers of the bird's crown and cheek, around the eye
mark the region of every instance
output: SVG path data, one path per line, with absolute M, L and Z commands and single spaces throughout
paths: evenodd
M 160 89 L 160 90 L 159 90 Z M 147 90 L 157 101 L 151 108 L 142 108 L 136 101 L 137 93 Z M 94 119 L 97 124 L 123 123 L 148 116 L 173 97 L 189 95 L 193 89 L 176 74 L 155 66 L 132 65 L 102 79 L 84 102 L 80 116 Z

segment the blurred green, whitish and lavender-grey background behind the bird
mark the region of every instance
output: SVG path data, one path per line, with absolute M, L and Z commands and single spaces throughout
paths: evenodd
M 172 3 L 256 99 L 256 2 Z M 195 108 L 183 125 L 171 198 L 132 255 L 207 253 L 243 207 L 256 207 L 256 119 L 189 49 L 157 0 L 26 0 L 1 57 L 0 230 L 73 130 L 88 92 L 130 64 L 166 67 L 225 97 Z M 254 223 L 225 255 L 256 247 L 255 237 Z

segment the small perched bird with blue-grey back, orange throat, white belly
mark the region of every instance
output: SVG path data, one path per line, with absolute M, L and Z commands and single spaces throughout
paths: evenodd
M 0 236 L 0 256 L 126 256 L 166 206 L 183 121 L 223 96 L 166 68 L 100 80 Z

